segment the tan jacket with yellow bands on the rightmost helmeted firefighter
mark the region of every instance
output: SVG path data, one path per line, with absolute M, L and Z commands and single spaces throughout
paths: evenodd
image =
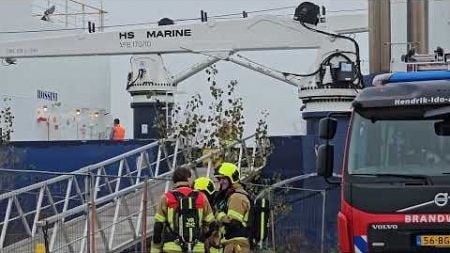
M 216 214 L 225 230 L 221 240 L 224 245 L 236 240 L 248 242 L 249 238 L 247 222 L 251 205 L 248 193 L 239 183 L 233 184 L 232 188 L 231 193 L 227 194 L 225 208 L 218 210 Z

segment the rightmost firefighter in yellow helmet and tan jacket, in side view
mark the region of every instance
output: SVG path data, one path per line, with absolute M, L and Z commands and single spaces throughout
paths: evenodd
M 222 163 L 215 176 L 220 184 L 215 204 L 218 209 L 216 219 L 224 227 L 221 240 L 224 253 L 248 253 L 250 242 L 247 222 L 251 205 L 248 193 L 240 184 L 238 168 L 232 163 Z

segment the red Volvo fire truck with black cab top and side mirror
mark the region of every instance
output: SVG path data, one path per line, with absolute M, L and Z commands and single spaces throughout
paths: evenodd
M 337 121 L 320 122 L 331 181 Z M 450 252 L 450 71 L 394 73 L 353 102 L 342 163 L 339 249 Z

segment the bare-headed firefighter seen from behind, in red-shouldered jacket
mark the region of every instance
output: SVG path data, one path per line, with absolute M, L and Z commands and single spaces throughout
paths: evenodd
M 191 171 L 173 172 L 174 189 L 161 196 L 155 214 L 151 253 L 204 253 L 205 227 L 214 221 L 208 198 L 191 188 Z

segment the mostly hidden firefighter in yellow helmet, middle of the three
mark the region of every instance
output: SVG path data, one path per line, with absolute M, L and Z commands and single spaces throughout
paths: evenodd
M 194 181 L 194 189 L 202 191 L 208 197 L 209 203 L 211 204 L 213 211 L 215 211 L 214 198 L 216 189 L 214 186 L 214 182 L 208 177 L 199 177 Z M 205 252 L 207 253 L 223 252 L 220 244 L 220 238 L 221 235 L 219 231 L 219 224 L 216 222 L 212 222 L 208 228 L 208 231 L 206 232 Z

